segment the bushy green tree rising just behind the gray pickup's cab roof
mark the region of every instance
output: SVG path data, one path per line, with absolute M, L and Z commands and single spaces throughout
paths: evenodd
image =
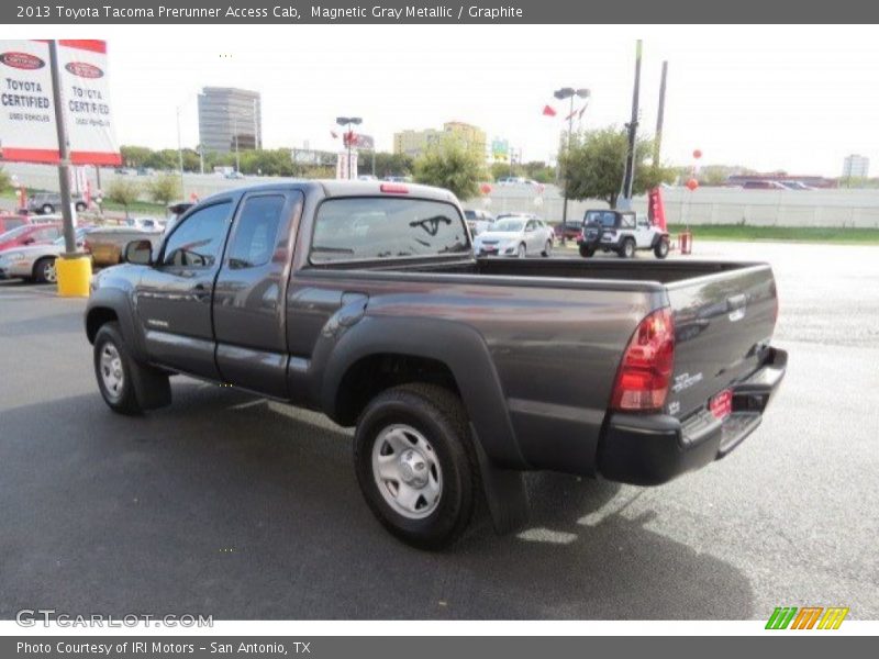
M 488 172 L 479 154 L 454 135 L 433 143 L 415 159 L 415 180 L 450 190 L 461 201 L 479 193 Z

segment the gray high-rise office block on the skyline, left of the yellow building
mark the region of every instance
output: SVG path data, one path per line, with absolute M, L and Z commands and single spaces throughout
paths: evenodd
M 259 92 L 233 87 L 202 89 L 199 94 L 199 142 L 204 152 L 263 148 Z

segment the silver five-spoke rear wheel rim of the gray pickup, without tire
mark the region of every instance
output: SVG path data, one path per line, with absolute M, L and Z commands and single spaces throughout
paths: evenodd
M 372 477 L 391 509 L 408 520 L 423 520 L 443 494 L 443 470 L 433 446 L 410 425 L 393 424 L 372 445 Z

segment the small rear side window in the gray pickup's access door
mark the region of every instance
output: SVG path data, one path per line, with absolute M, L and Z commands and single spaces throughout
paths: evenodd
M 283 202 L 282 194 L 251 197 L 244 202 L 229 248 L 230 268 L 254 268 L 269 261 L 278 239 Z

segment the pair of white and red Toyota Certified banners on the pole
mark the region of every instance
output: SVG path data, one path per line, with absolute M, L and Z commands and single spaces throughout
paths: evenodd
M 0 154 L 3 160 L 57 164 L 58 133 L 48 42 L 0 40 Z M 62 112 L 74 165 L 119 165 L 107 83 L 107 43 L 58 42 Z

